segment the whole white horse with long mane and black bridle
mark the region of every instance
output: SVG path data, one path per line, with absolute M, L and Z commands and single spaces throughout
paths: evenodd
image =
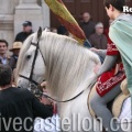
M 19 56 L 18 86 L 28 88 L 31 81 L 40 84 L 46 79 L 50 96 L 62 101 L 86 89 L 74 100 L 58 102 L 62 131 L 101 132 L 101 123 L 87 107 L 89 85 L 96 78 L 94 68 L 98 64 L 98 56 L 73 38 L 45 31 L 42 35 L 34 33 L 24 42 Z

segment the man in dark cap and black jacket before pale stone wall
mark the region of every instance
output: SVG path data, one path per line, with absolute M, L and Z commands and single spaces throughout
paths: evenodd
M 16 34 L 14 42 L 24 42 L 32 33 L 32 22 L 25 21 L 23 23 L 23 31 Z

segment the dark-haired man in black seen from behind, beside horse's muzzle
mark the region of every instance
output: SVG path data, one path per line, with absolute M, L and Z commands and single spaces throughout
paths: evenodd
M 33 132 L 35 117 L 53 116 L 53 107 L 41 103 L 29 90 L 12 87 L 12 70 L 0 64 L 0 131 Z

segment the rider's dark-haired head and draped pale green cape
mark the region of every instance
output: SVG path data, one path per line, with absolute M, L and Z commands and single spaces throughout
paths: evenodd
M 132 100 L 132 15 L 122 13 L 124 4 L 125 0 L 105 0 L 107 13 L 110 19 L 114 20 L 110 26 L 109 35 L 121 53 Z

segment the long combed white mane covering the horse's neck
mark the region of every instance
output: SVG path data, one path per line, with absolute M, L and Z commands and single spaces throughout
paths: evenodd
M 46 64 L 47 89 L 58 99 L 69 99 L 87 88 L 95 65 L 100 63 L 95 53 L 74 38 L 51 32 L 43 32 L 40 50 Z

